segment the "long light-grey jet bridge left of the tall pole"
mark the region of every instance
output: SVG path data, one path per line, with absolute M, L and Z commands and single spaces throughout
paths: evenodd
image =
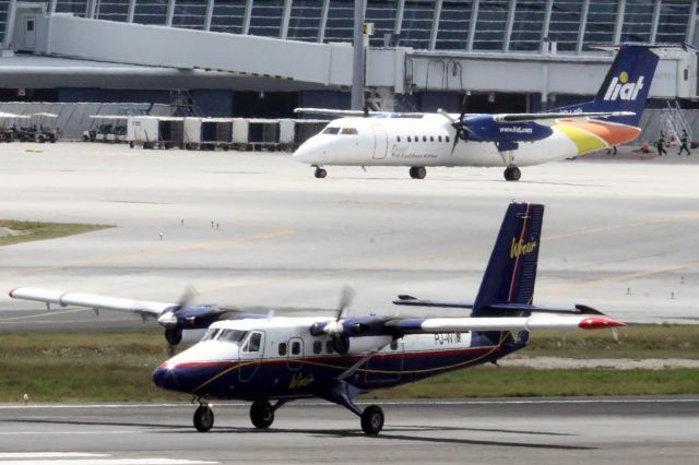
M 316 44 L 90 20 L 67 13 L 44 13 L 36 7 L 19 8 L 14 24 L 12 48 L 16 51 L 230 72 L 322 86 L 348 86 L 352 82 L 351 44 Z

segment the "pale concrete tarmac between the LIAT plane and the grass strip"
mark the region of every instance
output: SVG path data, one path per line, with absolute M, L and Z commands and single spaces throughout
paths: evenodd
M 332 313 L 345 284 L 356 314 L 393 314 L 398 294 L 469 300 L 512 199 L 546 204 L 537 303 L 698 320 L 694 157 L 566 160 L 520 182 L 495 168 L 416 181 L 403 168 L 332 167 L 318 180 L 288 154 L 87 143 L 5 144 L 0 163 L 1 216 L 117 226 L 0 248 L 0 331 L 141 324 L 46 314 L 9 299 L 16 286 L 174 302 L 192 284 L 201 302 L 281 312 Z

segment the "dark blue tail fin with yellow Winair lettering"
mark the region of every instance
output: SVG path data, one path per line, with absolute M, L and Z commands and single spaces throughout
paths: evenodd
M 511 203 L 507 208 L 473 317 L 484 317 L 493 303 L 532 303 L 543 219 L 541 204 Z

